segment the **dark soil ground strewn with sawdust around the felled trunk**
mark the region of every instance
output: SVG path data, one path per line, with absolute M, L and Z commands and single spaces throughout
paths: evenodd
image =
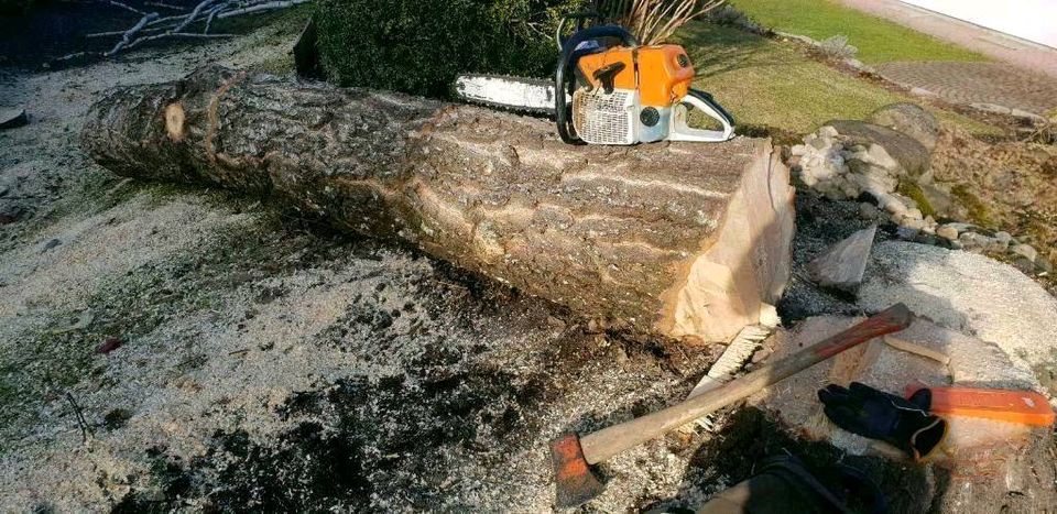
M 0 132 L 0 510 L 551 511 L 548 440 L 682 397 L 722 350 L 666 353 L 273 199 L 120 179 L 79 151 L 105 89 L 288 68 L 292 29 L 0 75 L 32 117 Z M 798 198 L 786 321 L 856 311 L 802 264 L 864 226 L 857 208 Z M 717 426 L 606 463 L 585 511 L 693 505 L 775 453 L 847 457 L 754 409 Z M 926 480 L 849 459 L 887 490 Z

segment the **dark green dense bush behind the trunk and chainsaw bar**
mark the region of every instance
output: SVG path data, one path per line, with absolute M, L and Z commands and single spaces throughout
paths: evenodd
M 443 97 L 460 73 L 549 76 L 553 30 L 582 0 L 320 0 L 331 81 Z

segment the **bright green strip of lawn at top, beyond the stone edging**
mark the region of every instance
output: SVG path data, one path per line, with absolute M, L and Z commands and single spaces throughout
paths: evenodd
M 985 61 L 974 52 L 903 25 L 871 17 L 832 0 L 730 0 L 762 25 L 821 41 L 848 36 L 863 63 L 892 61 Z

